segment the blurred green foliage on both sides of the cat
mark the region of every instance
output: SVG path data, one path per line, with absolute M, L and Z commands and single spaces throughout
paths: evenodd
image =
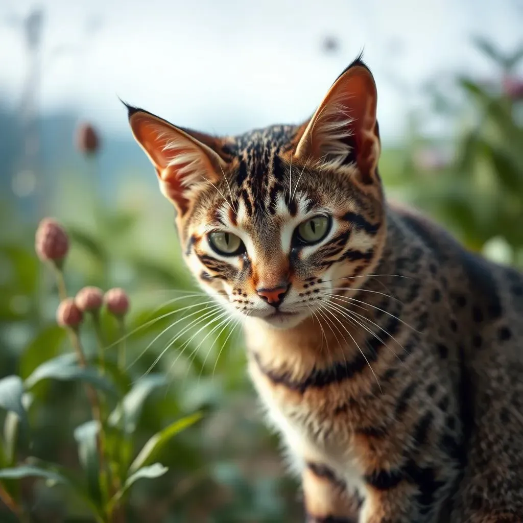
M 423 115 L 413 115 L 411 135 L 383 151 L 380 170 L 392 198 L 429 212 L 474 251 L 523 266 L 523 50 L 503 55 L 481 39 L 476 46 L 497 76 L 431 84 L 448 139 L 425 135 Z M 2 498 L 24 508 L 22 521 L 105 521 L 107 504 L 119 501 L 130 523 L 300 521 L 297 485 L 246 377 L 240 329 L 222 323 L 194 286 L 167 204 L 132 183 L 105 206 L 92 203 L 97 194 L 68 173 L 48 209 L 72 240 L 71 295 L 95 285 L 131 297 L 126 365 L 118 323 L 101 314 L 104 376 L 92 325 L 81 338 L 94 373 L 76 366 L 55 324 L 58 292 L 34 253 L 36 223 L 16 203 L 0 206 Z M 104 402 L 120 485 L 112 501 L 100 482 L 85 382 Z M 17 518 L 0 504 L 0 520 Z

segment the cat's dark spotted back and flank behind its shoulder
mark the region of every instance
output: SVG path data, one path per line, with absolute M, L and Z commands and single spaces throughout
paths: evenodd
M 423 215 L 396 205 L 391 209 L 402 234 L 426 249 L 428 272 L 433 274 L 425 277 L 440 282 L 448 323 L 432 325 L 427 334 L 444 330 L 460 361 L 458 393 L 468 439 L 463 456 L 467 467 L 454 503 L 453 514 L 459 516 L 451 521 L 461 521 L 479 499 L 492 500 L 492 513 L 520 514 L 523 275 L 468 252 Z M 428 291 L 422 300 L 431 301 Z

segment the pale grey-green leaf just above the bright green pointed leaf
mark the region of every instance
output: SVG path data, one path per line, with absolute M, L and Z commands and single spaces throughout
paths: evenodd
M 126 434 L 132 434 L 134 430 L 136 430 L 147 396 L 149 396 L 154 389 L 166 383 L 167 380 L 163 374 L 148 374 L 138 380 L 133 388 L 124 396 L 122 404 L 115 408 L 109 416 L 109 424 L 116 426 L 121 423 L 123 407 L 124 431 Z

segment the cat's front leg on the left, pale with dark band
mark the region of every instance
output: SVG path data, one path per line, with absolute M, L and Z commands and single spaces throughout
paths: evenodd
M 307 523 L 358 523 L 361 502 L 345 483 L 323 464 L 309 462 L 302 473 Z

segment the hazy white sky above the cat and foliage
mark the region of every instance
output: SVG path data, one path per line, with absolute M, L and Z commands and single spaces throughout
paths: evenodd
M 2 0 L 0 21 L 33 4 Z M 504 49 L 523 39 L 521 0 L 44 0 L 42 110 L 126 132 L 117 96 L 182 126 L 241 132 L 298 122 L 365 48 L 376 76 L 383 138 L 401 134 L 429 76 L 490 71 L 470 36 Z M 99 18 L 89 37 L 85 26 Z M 339 39 L 325 54 L 322 40 Z M 74 50 L 53 58 L 52 50 Z M 0 97 L 19 99 L 27 59 L 22 33 L 0 26 Z M 394 87 L 391 76 L 404 84 Z M 407 89 L 408 88 L 408 89 Z

